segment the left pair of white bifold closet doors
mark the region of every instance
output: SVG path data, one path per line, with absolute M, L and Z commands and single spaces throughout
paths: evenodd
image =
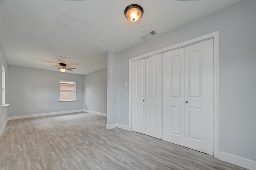
M 132 62 L 132 131 L 162 139 L 162 54 Z

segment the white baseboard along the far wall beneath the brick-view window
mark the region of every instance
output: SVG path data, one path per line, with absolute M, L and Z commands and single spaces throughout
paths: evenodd
M 30 118 L 30 117 L 40 117 L 40 116 L 49 116 L 49 115 L 59 115 L 59 114 L 74 113 L 74 112 L 79 112 L 79 111 L 84 111 L 84 109 L 68 110 L 68 111 L 56 111 L 56 112 L 50 112 L 50 113 L 39 113 L 39 114 L 22 115 L 22 116 L 11 116 L 11 117 L 8 117 L 7 120 L 25 119 L 25 118 Z

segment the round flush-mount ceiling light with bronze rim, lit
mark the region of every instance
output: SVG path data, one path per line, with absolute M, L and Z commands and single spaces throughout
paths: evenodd
M 136 22 L 143 15 L 143 8 L 138 4 L 131 4 L 124 10 L 124 15 L 129 21 Z

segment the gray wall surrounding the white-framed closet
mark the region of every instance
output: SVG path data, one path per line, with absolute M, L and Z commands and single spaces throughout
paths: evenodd
M 128 125 L 128 60 L 214 31 L 219 33 L 220 151 L 256 160 L 256 1 L 240 1 L 119 53 L 116 62 L 117 121 Z M 114 66 L 113 66 L 114 67 Z M 116 74 L 116 75 L 115 75 Z M 114 80 L 110 80 L 114 84 Z M 108 84 L 111 88 L 111 84 Z M 108 94 L 109 95 L 109 94 Z M 114 106 L 113 106 L 114 107 Z M 111 120 L 114 118 L 110 117 Z M 108 116 L 109 119 L 109 116 Z

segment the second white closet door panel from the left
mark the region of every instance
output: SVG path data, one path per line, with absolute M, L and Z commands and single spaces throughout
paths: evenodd
M 162 54 L 146 58 L 146 135 L 162 139 Z

